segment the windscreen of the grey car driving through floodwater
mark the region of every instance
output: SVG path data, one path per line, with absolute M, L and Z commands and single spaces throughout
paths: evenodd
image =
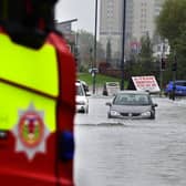
M 149 105 L 151 99 L 146 94 L 118 94 L 113 101 L 114 105 Z

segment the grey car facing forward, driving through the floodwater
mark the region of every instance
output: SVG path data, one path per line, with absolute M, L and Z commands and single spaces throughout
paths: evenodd
M 110 106 L 108 118 L 155 118 L 155 107 L 149 93 L 141 91 L 121 91 Z

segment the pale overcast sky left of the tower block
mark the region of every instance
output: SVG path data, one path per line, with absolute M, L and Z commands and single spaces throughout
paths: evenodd
M 78 19 L 73 30 L 94 32 L 95 0 L 59 0 L 55 6 L 55 19 L 59 22 Z

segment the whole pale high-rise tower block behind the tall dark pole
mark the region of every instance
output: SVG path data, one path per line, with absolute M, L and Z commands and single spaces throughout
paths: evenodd
M 126 0 L 125 14 L 125 53 L 131 48 L 137 50 L 141 38 L 148 34 L 153 38 L 156 30 L 155 19 L 165 0 Z M 112 55 L 120 56 L 123 33 L 123 0 L 101 0 L 100 41 L 106 50 L 110 40 Z

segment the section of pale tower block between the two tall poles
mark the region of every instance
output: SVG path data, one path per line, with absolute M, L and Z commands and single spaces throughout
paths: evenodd
M 122 0 L 101 0 L 100 41 L 104 50 L 111 42 L 112 55 L 121 52 L 122 13 Z

